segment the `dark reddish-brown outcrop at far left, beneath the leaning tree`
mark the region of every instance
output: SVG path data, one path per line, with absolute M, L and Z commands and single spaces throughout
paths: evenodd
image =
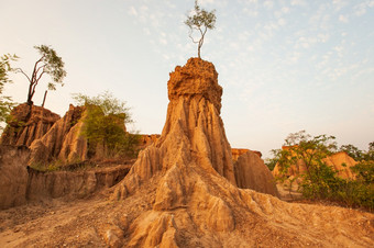
M 11 111 L 8 126 L 1 135 L 1 144 L 30 146 L 46 134 L 59 119 L 58 114 L 42 106 L 20 104 Z

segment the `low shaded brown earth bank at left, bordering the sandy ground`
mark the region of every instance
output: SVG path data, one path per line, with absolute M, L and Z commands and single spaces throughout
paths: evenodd
M 28 167 L 26 146 L 0 146 L 0 210 L 51 199 L 74 200 L 121 181 L 131 165 L 95 170 L 41 172 Z

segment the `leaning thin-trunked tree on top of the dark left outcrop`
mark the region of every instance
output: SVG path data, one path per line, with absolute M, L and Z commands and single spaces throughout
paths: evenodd
M 64 61 L 57 56 L 56 52 L 46 45 L 34 46 L 40 53 L 41 57 L 36 60 L 34 65 L 33 72 L 29 77 L 21 68 L 15 68 L 15 72 L 23 74 L 29 80 L 29 93 L 28 103 L 32 104 L 32 99 L 35 93 L 35 88 L 42 79 L 43 75 L 50 75 L 52 82 L 48 82 L 48 90 L 56 90 L 56 84 L 64 86 L 63 80 L 66 77 L 66 71 L 64 69 Z M 45 100 L 45 99 L 44 99 Z M 44 103 L 44 101 L 43 101 Z

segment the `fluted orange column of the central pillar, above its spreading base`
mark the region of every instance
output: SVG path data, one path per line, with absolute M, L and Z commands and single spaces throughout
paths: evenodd
M 231 147 L 219 115 L 222 88 L 211 63 L 191 58 L 175 68 L 167 83 L 166 123 L 154 145 L 140 153 L 127 180 L 117 190 L 119 198 L 172 167 L 199 165 L 237 184 Z

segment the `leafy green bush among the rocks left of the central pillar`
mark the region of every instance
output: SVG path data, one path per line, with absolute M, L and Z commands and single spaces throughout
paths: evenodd
M 140 137 L 125 132 L 124 124 L 132 122 L 125 102 L 108 91 L 94 98 L 75 94 L 74 99 L 87 108 L 82 135 L 88 139 L 89 154 L 101 146 L 109 157 L 136 155 Z

